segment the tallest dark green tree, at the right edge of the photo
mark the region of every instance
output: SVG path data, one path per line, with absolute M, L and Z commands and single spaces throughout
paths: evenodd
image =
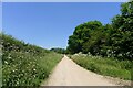
M 112 35 L 112 46 L 121 58 L 133 57 L 133 1 L 121 6 L 121 14 L 112 20 L 116 33 Z

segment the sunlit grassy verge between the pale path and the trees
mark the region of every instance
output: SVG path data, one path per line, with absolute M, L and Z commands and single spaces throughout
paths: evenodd
M 117 77 L 125 80 L 133 80 L 133 78 L 131 77 L 131 72 L 133 73 L 133 62 L 120 62 L 113 58 L 84 55 L 73 55 L 71 56 L 71 58 L 80 66 L 94 73 L 105 76 Z

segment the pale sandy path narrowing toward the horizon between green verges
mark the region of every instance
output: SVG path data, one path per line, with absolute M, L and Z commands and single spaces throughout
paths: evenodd
M 64 55 L 42 86 L 116 86 L 103 76 L 76 65 Z

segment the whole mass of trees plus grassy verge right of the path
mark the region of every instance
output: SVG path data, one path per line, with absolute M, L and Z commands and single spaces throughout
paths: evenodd
M 66 53 L 82 67 L 112 77 L 133 80 L 133 1 L 121 4 L 110 24 L 90 21 L 69 36 Z M 90 55 L 90 56 L 89 56 Z

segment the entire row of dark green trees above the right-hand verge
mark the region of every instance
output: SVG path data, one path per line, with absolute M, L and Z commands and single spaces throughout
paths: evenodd
M 121 6 L 121 14 L 111 24 L 90 21 L 75 28 L 69 37 L 69 53 L 91 53 L 133 61 L 133 1 Z

